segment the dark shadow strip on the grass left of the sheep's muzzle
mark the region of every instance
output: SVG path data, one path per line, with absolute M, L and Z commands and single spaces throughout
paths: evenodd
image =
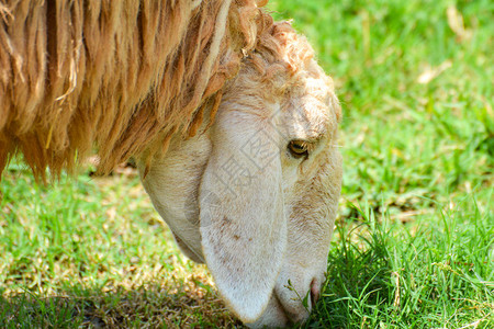
M 0 296 L 2 328 L 234 328 L 242 324 L 212 288 L 146 285 L 137 290 L 72 286 L 59 296 Z

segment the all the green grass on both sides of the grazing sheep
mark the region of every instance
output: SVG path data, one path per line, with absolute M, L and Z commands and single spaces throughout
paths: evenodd
M 303 328 L 494 325 L 494 4 L 271 1 L 338 87 L 345 182 Z M 235 327 L 132 171 L 0 186 L 0 326 Z

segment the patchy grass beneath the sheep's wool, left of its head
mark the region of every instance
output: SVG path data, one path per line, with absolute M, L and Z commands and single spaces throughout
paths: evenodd
M 135 171 L 40 186 L 14 164 L 1 189 L 0 327 L 235 322 Z

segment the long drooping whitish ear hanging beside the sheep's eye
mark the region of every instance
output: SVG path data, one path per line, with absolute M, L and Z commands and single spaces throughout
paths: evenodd
M 244 322 L 267 307 L 287 245 L 280 151 L 270 128 L 233 112 L 218 116 L 200 190 L 205 262 Z

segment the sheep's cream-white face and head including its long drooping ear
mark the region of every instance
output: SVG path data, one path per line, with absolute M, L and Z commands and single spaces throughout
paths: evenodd
M 207 264 L 251 327 L 304 320 L 302 299 L 310 294 L 311 309 L 325 280 L 341 184 L 339 105 L 314 61 L 310 70 L 273 92 L 245 68 L 213 126 L 173 139 L 143 179 L 181 249 Z

